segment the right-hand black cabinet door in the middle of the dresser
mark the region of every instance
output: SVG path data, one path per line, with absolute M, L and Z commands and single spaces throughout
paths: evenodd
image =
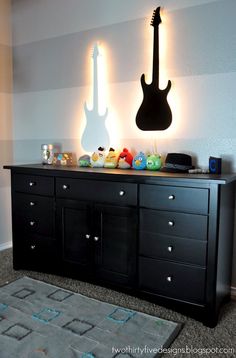
M 120 285 L 133 285 L 136 274 L 136 242 L 136 209 L 95 206 L 95 264 L 99 279 Z

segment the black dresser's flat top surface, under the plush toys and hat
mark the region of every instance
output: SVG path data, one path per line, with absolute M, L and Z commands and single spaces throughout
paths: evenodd
M 184 181 L 199 183 L 228 184 L 236 180 L 236 173 L 232 174 L 188 174 L 188 173 L 166 173 L 150 170 L 135 169 L 106 169 L 106 168 L 84 168 L 79 166 L 54 166 L 43 164 L 5 165 L 4 169 L 10 169 L 14 173 L 70 176 L 86 179 L 104 179 L 127 181 Z

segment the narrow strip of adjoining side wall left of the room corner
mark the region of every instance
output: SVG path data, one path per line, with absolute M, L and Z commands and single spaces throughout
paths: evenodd
M 10 0 L 0 0 L 0 249 L 11 243 L 10 176 L 2 169 L 13 159 L 10 11 Z

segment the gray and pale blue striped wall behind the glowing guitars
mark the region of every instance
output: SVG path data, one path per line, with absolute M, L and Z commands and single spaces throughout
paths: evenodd
M 207 167 L 210 155 L 236 171 L 235 0 L 13 0 L 14 160 L 40 160 L 40 145 L 83 153 L 84 102 L 91 104 L 91 49 L 106 63 L 111 145 L 134 152 L 182 151 Z M 135 115 L 140 75 L 150 79 L 153 9 L 162 7 L 161 85 L 173 125 L 142 132 Z M 236 240 L 235 240 L 236 241 Z M 236 245 L 235 245 L 236 246 Z M 236 248 L 235 248 L 236 250 Z M 234 257 L 236 258 L 236 252 Z M 236 266 L 233 284 L 236 286 Z

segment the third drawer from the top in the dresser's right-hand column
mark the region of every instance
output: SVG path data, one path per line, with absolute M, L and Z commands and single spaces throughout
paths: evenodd
M 193 265 L 206 265 L 207 241 L 189 240 L 148 231 L 140 232 L 140 255 Z

